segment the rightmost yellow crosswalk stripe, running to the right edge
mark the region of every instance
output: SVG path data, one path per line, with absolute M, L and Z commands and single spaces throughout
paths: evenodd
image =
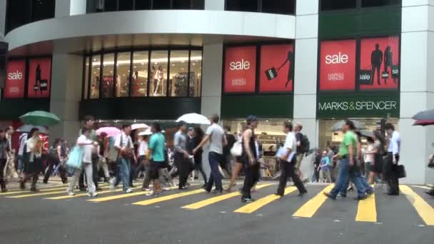
M 426 225 L 434 225 L 434 208 L 407 185 L 400 185 L 400 190 L 407 196 Z

